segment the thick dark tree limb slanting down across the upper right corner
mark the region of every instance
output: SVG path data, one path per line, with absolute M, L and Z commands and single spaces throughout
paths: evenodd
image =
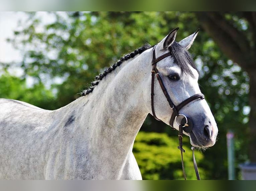
M 219 13 L 197 12 L 196 15 L 205 31 L 230 59 L 246 71 L 256 69 L 255 56 L 251 55 L 250 44 L 240 31 L 232 27 Z

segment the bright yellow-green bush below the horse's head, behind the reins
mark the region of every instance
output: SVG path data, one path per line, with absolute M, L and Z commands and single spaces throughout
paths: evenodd
M 139 132 L 133 146 L 133 153 L 138 162 L 142 179 L 144 180 L 177 180 L 183 179 L 180 150 L 177 149 L 178 138 L 169 137 L 166 133 Z M 196 179 L 192 160 L 192 151 L 189 147 L 189 139 L 184 139 L 185 153 L 184 166 L 188 179 Z M 199 151 L 196 151 L 197 163 L 204 159 Z M 205 178 L 205 171 L 199 168 L 201 178 Z

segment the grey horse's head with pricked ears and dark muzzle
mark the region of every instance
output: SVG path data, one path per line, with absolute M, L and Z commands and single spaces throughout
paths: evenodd
M 151 114 L 175 129 L 182 125 L 193 146 L 213 146 L 218 127 L 200 91 L 197 67 L 187 51 L 199 30 L 175 42 L 177 30 L 172 30 L 152 51 Z M 153 78 L 155 74 L 157 79 Z

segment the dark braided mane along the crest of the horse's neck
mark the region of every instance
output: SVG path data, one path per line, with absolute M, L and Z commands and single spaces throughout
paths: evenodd
M 81 95 L 85 96 L 90 94 L 91 92 L 93 92 L 93 89 L 95 86 L 97 86 L 100 81 L 107 76 L 109 73 L 111 73 L 113 70 L 115 70 L 118 66 L 120 66 L 123 61 L 129 60 L 130 58 L 135 57 L 137 54 L 141 54 L 143 53 L 145 50 L 150 49 L 152 46 L 150 46 L 149 44 L 145 44 L 142 47 L 136 49 L 135 51 L 124 55 L 123 57 L 121 57 L 113 66 L 110 66 L 108 69 L 106 69 L 103 73 L 99 74 L 98 76 L 95 77 L 95 81 L 91 82 L 91 86 L 84 90 Z

